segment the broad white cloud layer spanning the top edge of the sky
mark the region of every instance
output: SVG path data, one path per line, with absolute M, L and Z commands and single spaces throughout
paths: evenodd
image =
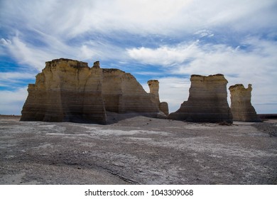
M 275 0 L 4 1 L 6 22 L 60 39 L 87 32 L 182 35 L 229 26 L 237 30 L 276 25 Z

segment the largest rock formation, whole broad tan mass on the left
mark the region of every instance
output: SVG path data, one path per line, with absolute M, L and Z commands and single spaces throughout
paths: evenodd
M 60 58 L 28 85 L 21 121 L 107 124 L 109 112 L 158 117 L 158 105 L 130 73 Z

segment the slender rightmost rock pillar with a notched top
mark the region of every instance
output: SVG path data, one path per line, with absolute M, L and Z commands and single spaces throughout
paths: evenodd
M 234 121 L 261 122 L 251 105 L 252 87 L 250 84 L 248 88 L 241 84 L 232 85 L 229 87 L 229 91 L 231 93 L 231 112 Z

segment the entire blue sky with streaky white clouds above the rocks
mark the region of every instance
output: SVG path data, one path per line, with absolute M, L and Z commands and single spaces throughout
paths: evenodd
M 45 62 L 70 58 L 130 72 L 175 112 L 190 75 L 253 87 L 277 113 L 277 0 L 0 0 L 0 114 L 21 114 Z M 229 94 L 227 100 L 230 104 Z

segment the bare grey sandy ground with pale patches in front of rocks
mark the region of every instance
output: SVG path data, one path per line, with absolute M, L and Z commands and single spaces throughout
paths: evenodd
M 277 120 L 97 124 L 0 117 L 0 184 L 276 184 Z

